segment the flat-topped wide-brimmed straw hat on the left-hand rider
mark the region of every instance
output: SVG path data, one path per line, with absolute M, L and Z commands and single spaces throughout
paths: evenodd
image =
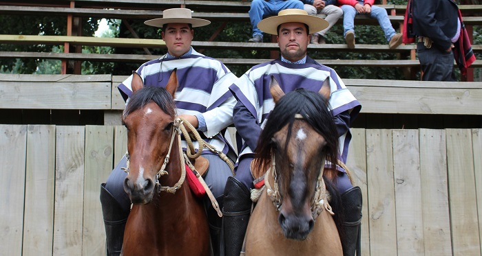
M 211 24 L 211 21 L 205 19 L 196 19 L 191 15 L 191 10 L 187 8 L 172 8 L 164 10 L 163 17 L 145 21 L 145 25 L 153 27 L 163 27 L 167 23 L 188 23 L 192 27 L 202 27 Z

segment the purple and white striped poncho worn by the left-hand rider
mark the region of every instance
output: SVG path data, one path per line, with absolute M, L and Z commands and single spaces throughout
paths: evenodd
M 177 68 L 178 91 L 175 95 L 177 115 L 198 115 L 205 119 L 207 131 L 202 132 L 205 141 L 217 150 L 228 151 L 227 141 L 221 136 L 227 126 L 233 124 L 235 98 L 229 85 L 237 77 L 219 60 L 209 58 L 191 48 L 191 54 L 179 58 L 162 56 L 145 62 L 137 69 L 147 86 L 165 87 L 171 72 Z M 132 75 L 119 84 L 118 89 L 127 100 L 132 94 Z M 198 148 L 198 144 L 194 145 Z M 186 148 L 185 141 L 182 147 Z M 209 150 L 205 150 L 209 152 Z

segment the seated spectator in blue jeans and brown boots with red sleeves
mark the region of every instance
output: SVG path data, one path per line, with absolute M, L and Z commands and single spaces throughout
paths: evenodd
M 388 14 L 384 8 L 376 5 L 375 0 L 337 0 L 343 10 L 343 28 L 346 45 L 348 48 L 355 48 L 355 16 L 367 15 L 373 19 L 377 19 L 381 30 L 384 31 L 385 38 L 388 41 L 390 49 L 395 49 L 401 45 L 401 34 L 395 32 L 388 19 Z

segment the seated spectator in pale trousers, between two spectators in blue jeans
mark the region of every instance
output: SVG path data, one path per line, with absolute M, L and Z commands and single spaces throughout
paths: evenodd
M 326 43 L 326 33 L 331 29 L 331 27 L 333 27 L 333 25 L 335 25 L 335 23 L 337 23 L 338 19 L 343 16 L 343 10 L 335 5 L 336 2 L 336 0 L 315 0 L 313 1 L 313 4 L 305 3 L 304 10 L 308 12 L 308 14 L 325 14 L 325 21 L 328 21 L 329 24 L 326 29 L 311 34 L 310 43 L 314 45 Z

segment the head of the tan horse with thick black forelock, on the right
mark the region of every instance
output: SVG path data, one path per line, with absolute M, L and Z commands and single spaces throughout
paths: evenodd
M 338 135 L 328 105 L 329 83 L 325 81 L 318 93 L 297 89 L 285 95 L 272 78 L 270 92 L 275 108 L 258 141 L 255 166 L 257 170 L 273 166 L 280 195 L 278 222 L 284 236 L 305 240 L 315 223 L 313 198 L 324 161 L 337 159 Z

